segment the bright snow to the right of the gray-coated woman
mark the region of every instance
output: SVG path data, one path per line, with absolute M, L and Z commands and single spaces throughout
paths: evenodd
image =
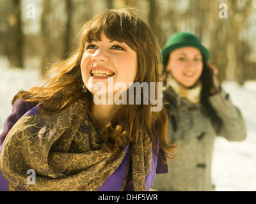
M 256 81 L 243 87 L 224 82 L 223 89 L 246 120 L 247 138 L 243 142 L 216 139 L 212 180 L 216 191 L 256 191 Z

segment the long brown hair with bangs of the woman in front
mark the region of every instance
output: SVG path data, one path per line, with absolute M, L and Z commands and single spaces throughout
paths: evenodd
M 70 105 L 77 99 L 88 102 L 86 108 L 92 110 L 92 93 L 83 90 L 80 63 L 86 42 L 100 40 L 104 32 L 110 40 L 126 43 L 137 54 L 138 71 L 136 82 L 154 82 L 157 96 L 157 82 L 162 82 L 159 64 L 159 47 L 150 27 L 138 17 L 133 8 L 106 10 L 83 25 L 79 33 L 80 42 L 77 51 L 67 60 L 53 66 L 47 76 L 56 73 L 46 84 L 33 87 L 28 92 L 20 91 L 13 99 L 24 98 L 25 101 L 42 103 L 46 112 L 55 112 Z M 143 92 L 141 92 L 143 94 Z M 143 96 L 141 96 L 143 98 Z M 104 128 L 104 145 L 102 149 L 115 152 L 129 142 L 136 142 L 144 131 L 150 136 L 150 143 L 158 143 L 166 156 L 173 157 L 175 145 L 166 139 L 168 117 L 164 108 L 152 112 L 148 105 L 124 105 L 118 114 Z M 92 115 L 91 115 L 92 116 Z M 150 145 L 148 143 L 148 145 Z

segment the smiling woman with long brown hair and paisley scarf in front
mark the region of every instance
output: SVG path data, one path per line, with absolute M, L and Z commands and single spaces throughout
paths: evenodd
M 175 156 L 164 108 L 93 103 L 93 86 L 108 86 L 109 78 L 125 89 L 129 82 L 152 82 L 158 95 L 157 43 L 138 12 L 106 10 L 79 36 L 76 52 L 49 71 L 54 77 L 13 98 L 1 134 L 4 190 L 147 191 L 156 173 L 166 173 L 165 156 Z M 36 184 L 28 184 L 28 169 Z

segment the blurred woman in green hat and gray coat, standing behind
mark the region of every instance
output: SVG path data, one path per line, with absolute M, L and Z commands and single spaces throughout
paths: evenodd
M 214 191 L 211 163 L 214 140 L 246 138 L 241 112 L 232 104 L 209 66 L 208 50 L 196 36 L 176 33 L 162 50 L 168 101 L 168 139 L 179 154 L 168 173 L 157 175 L 152 188 L 160 191 Z

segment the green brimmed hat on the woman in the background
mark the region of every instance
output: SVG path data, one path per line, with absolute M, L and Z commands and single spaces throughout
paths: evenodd
M 195 47 L 202 52 L 206 60 L 210 57 L 209 51 L 201 45 L 196 36 L 191 33 L 175 33 L 166 41 L 162 50 L 163 59 L 166 59 L 173 50 L 180 47 Z

